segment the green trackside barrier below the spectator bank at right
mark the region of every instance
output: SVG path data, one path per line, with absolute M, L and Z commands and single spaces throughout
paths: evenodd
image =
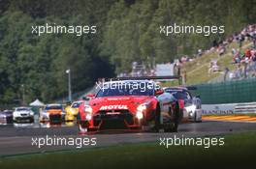
M 256 101 L 256 78 L 201 84 L 196 87 L 197 90 L 191 92 L 199 95 L 203 104 Z

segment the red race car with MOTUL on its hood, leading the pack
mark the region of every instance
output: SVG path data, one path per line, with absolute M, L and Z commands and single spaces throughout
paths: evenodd
M 104 129 L 176 131 L 177 100 L 150 80 L 104 82 L 96 95 L 80 105 L 80 133 Z

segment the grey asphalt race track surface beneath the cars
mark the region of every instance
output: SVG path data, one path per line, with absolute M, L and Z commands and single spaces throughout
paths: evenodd
M 178 127 L 176 133 L 152 132 L 113 132 L 80 135 L 75 124 L 50 126 L 48 124 L 16 124 L 0 126 L 0 155 L 18 155 L 30 153 L 46 153 L 50 151 L 78 149 L 76 146 L 32 146 L 32 138 L 46 136 L 61 138 L 96 138 L 97 144 L 83 146 L 82 149 L 107 147 L 131 143 L 156 142 L 160 138 L 200 137 L 208 135 L 225 135 L 237 132 L 256 131 L 256 123 L 203 121 L 202 123 L 185 123 Z

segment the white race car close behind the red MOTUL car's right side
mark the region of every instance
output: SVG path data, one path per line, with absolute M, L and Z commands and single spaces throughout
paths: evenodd
M 173 94 L 178 100 L 184 120 L 202 122 L 201 99 L 192 97 L 189 90 L 185 87 L 167 87 L 164 88 L 164 91 Z

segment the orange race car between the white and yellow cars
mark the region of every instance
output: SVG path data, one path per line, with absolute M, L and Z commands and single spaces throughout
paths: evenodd
M 62 104 L 47 104 L 45 109 L 40 112 L 40 122 L 62 122 L 65 114 Z

